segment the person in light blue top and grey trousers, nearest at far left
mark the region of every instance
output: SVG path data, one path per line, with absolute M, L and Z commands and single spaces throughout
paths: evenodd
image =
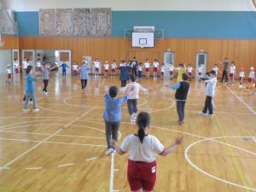
M 33 109 L 34 112 L 38 112 L 39 108 L 37 108 L 37 101 L 36 101 L 36 96 L 35 96 L 35 84 L 34 82 L 37 81 L 35 78 L 36 73 L 33 73 L 32 71 L 32 66 L 26 67 L 26 78 L 25 78 L 25 84 L 26 84 L 26 101 L 24 104 L 24 113 L 28 113 L 30 109 L 27 109 L 28 102 L 30 98 L 32 98 L 33 102 Z

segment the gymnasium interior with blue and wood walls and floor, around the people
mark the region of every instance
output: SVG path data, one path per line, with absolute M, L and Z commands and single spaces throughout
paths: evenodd
M 157 59 L 163 67 L 157 79 L 153 67 L 148 79 L 144 68 L 137 78 L 148 90 L 137 99 L 138 113 L 150 114 L 148 134 L 164 146 L 183 137 L 171 154 L 155 154 L 154 191 L 256 191 L 256 0 L 0 0 L 0 192 L 132 191 L 129 154 L 105 154 L 103 113 L 109 88 L 120 88 L 120 62 L 134 57 L 151 66 Z M 37 61 L 56 66 L 49 94 L 37 76 L 37 113 L 23 110 L 25 58 L 36 74 Z M 232 83 L 221 81 L 225 58 L 236 65 Z M 73 63 L 81 67 L 83 61 L 90 70 L 82 91 Z M 104 76 L 106 61 L 116 62 L 116 75 L 110 70 Z M 172 78 L 169 67 L 180 63 L 193 67 L 181 125 L 176 90 L 169 88 L 177 84 L 176 69 Z M 215 65 L 214 116 L 202 116 L 204 80 Z M 126 103 L 121 113 L 119 145 L 137 133 Z

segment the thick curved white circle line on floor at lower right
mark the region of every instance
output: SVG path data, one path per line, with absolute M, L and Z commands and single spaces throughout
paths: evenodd
M 248 189 L 248 190 L 253 190 L 253 191 L 256 191 L 255 188 L 251 188 L 251 187 L 247 187 L 247 186 L 244 186 L 244 185 L 241 185 L 241 184 L 237 184 L 237 183 L 232 183 L 230 181 L 227 181 L 227 180 L 224 180 L 223 178 L 219 178 L 219 177 L 216 177 L 214 175 L 212 175 L 211 173 L 209 172 L 206 172 L 204 170 L 202 170 L 199 166 L 196 166 L 190 159 L 189 159 L 189 149 L 192 148 L 193 146 L 195 146 L 196 144 L 198 143 L 204 143 L 204 142 L 207 142 L 207 141 L 216 141 L 216 139 L 219 139 L 219 138 L 241 138 L 241 137 L 210 137 L 210 138 L 205 138 L 205 139 L 202 139 L 202 140 L 199 140 L 199 141 L 196 141 L 195 143 L 191 143 L 189 144 L 189 146 L 185 149 L 184 151 L 184 156 L 185 156 L 185 159 L 189 162 L 190 166 L 194 167 L 195 170 L 201 172 L 201 173 L 204 173 L 205 175 L 207 175 L 208 177 L 212 177 L 216 180 L 218 180 L 219 182 L 222 182 L 222 183 L 227 183 L 227 184 L 230 184 L 230 185 L 233 185 L 233 186 L 236 186 L 236 187 L 239 187 L 241 189 Z M 229 144 L 230 145 L 230 144 Z M 236 147 L 236 146 L 232 146 L 232 147 Z M 236 147 L 237 149 L 242 149 L 242 151 L 247 151 L 246 149 L 244 148 L 238 148 Z M 247 151 L 247 152 L 250 152 L 250 154 L 254 154 L 256 155 L 255 153 L 253 153 L 252 151 Z

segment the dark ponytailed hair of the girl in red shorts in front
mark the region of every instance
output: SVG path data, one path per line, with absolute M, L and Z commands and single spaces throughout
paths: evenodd
M 147 112 L 141 112 L 137 115 L 137 135 L 140 142 L 143 143 L 143 139 L 146 136 L 145 129 L 150 124 L 150 115 Z

